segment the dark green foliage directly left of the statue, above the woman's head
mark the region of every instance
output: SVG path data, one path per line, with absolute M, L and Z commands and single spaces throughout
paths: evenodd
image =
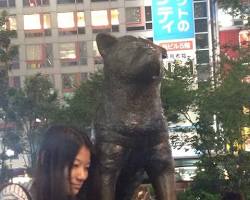
M 71 99 L 55 115 L 55 121 L 70 123 L 80 129 L 90 127 L 95 113 L 102 102 L 103 72 L 92 74 L 89 80 L 82 82 Z

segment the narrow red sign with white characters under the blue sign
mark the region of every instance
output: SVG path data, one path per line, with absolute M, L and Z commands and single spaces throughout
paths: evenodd
M 192 50 L 193 41 L 166 42 L 160 43 L 160 46 L 165 48 L 167 51 Z

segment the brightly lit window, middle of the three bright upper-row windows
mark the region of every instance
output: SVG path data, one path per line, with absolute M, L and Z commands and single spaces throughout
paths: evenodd
M 84 12 L 57 13 L 57 26 L 59 35 L 84 34 Z

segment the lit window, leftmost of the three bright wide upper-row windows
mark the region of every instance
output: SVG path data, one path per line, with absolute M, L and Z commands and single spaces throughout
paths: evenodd
M 51 36 L 50 14 L 32 14 L 23 17 L 25 37 Z

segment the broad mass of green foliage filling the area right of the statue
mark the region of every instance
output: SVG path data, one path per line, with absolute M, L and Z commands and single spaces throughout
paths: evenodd
M 201 155 L 197 176 L 183 199 L 196 199 L 203 192 L 219 195 L 225 191 L 250 197 L 250 153 L 244 150 L 250 128 L 250 51 L 249 47 L 234 50 L 238 59 L 221 55 L 216 84 L 208 80 L 198 83 L 198 88 L 192 87 L 195 80 L 189 79 L 195 77 L 188 66 L 183 68 L 178 62 L 172 66 L 175 70 L 165 74 L 162 100 L 168 120 L 178 122 L 182 115 L 192 123 L 196 134 L 185 139 L 185 143 Z M 189 120 L 190 109 L 197 114 L 196 120 Z M 171 139 L 174 145 L 184 144 L 178 136 Z

